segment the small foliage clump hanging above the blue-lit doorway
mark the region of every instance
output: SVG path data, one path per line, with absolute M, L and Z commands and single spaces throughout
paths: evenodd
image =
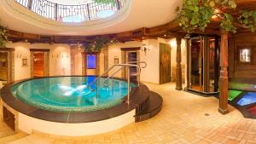
M 104 48 L 109 43 L 109 38 L 107 37 L 96 37 L 94 43 L 84 43 L 84 51 L 86 53 L 97 53 L 101 52 L 102 48 Z

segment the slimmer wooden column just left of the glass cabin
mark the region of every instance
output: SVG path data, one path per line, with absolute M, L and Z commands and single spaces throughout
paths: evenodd
M 176 66 L 176 89 L 177 90 L 182 90 L 182 68 L 181 68 L 181 37 L 176 37 L 176 43 L 177 43 L 177 54 L 176 54 L 176 61 L 177 61 L 177 66 Z

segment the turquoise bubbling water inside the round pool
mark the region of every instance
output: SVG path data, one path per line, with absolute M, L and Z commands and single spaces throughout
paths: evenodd
M 11 91 L 20 101 L 55 112 L 91 112 L 123 102 L 127 95 L 125 81 L 113 79 L 113 83 L 110 80 L 110 85 L 106 87 L 103 84 L 104 78 L 101 78 L 98 90 L 91 92 L 88 84 L 94 79 L 95 77 L 33 79 L 15 84 Z M 135 86 L 131 84 L 131 87 Z M 91 88 L 96 89 L 96 83 Z

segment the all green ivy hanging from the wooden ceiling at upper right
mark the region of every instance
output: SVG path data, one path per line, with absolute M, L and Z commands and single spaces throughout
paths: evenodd
M 212 18 L 220 20 L 220 26 L 226 32 L 236 32 L 234 18 L 231 14 L 220 11 L 221 9 L 236 9 L 235 0 L 183 0 L 183 8 L 177 7 L 178 25 L 190 33 L 200 30 L 204 32 Z M 256 22 L 255 11 L 242 11 L 238 20 L 242 26 L 250 28 L 254 32 Z

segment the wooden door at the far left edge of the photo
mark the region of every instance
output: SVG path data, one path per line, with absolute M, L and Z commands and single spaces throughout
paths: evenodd
M 0 53 L 0 81 L 8 81 L 8 53 Z

